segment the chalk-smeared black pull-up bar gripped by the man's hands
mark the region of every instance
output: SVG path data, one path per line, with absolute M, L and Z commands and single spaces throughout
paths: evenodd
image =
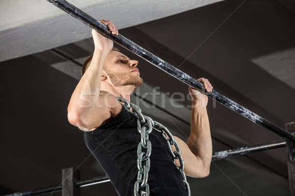
M 266 119 L 262 118 L 261 116 L 255 114 L 254 112 L 248 110 L 247 108 L 239 105 L 235 101 L 227 98 L 217 91 L 212 90 L 212 92 L 208 93 L 205 91 L 204 85 L 197 81 L 195 78 L 191 77 L 190 75 L 178 70 L 171 64 L 167 63 L 166 61 L 162 60 L 161 58 L 157 57 L 156 55 L 152 54 L 148 50 L 142 48 L 141 46 L 135 44 L 131 40 L 127 39 L 122 35 L 113 35 L 109 30 L 108 27 L 94 19 L 93 17 L 89 16 L 87 13 L 83 12 L 79 8 L 75 7 L 71 3 L 67 2 L 66 0 L 47 0 L 54 4 L 55 6 L 59 7 L 66 13 L 72 15 L 76 19 L 82 21 L 86 25 L 90 26 L 91 28 L 95 29 L 97 32 L 101 33 L 105 37 L 113 40 L 118 45 L 124 47 L 125 49 L 130 50 L 134 54 L 142 57 L 152 65 L 156 66 L 157 68 L 163 70 L 164 72 L 172 75 L 173 77 L 177 78 L 178 80 L 182 81 L 183 83 L 199 90 L 201 93 L 207 95 L 209 98 L 215 99 L 219 103 L 223 104 L 224 106 L 230 108 L 231 110 L 235 111 L 236 113 L 242 115 L 243 117 L 249 119 L 253 123 L 260 124 L 264 126 L 266 129 L 278 134 L 283 138 L 288 138 L 295 142 L 295 136 L 291 133 L 285 131 L 281 127 L 270 123 Z

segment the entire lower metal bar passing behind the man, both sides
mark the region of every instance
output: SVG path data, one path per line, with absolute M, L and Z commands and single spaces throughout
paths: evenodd
M 248 154 L 252 152 L 259 152 L 259 151 L 265 151 L 265 150 L 275 149 L 279 147 L 285 147 L 285 146 L 286 146 L 286 141 L 275 141 L 275 142 L 270 142 L 270 143 L 255 145 L 250 147 L 239 147 L 232 150 L 224 150 L 224 151 L 213 153 L 212 161 L 221 160 L 221 159 L 225 159 L 232 156 L 244 155 L 244 154 Z M 101 183 L 105 183 L 109 181 L 110 179 L 106 176 L 94 177 L 88 180 L 77 181 L 75 185 L 81 188 L 81 187 L 92 186 L 95 184 L 101 184 Z M 32 189 L 30 191 L 12 193 L 12 194 L 2 195 L 2 196 L 37 196 L 37 195 L 54 193 L 54 192 L 61 192 L 61 185 L 56 185 L 56 186 L 48 187 L 48 188 Z

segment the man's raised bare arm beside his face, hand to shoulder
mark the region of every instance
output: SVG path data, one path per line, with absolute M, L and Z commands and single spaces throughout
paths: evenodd
M 113 42 L 93 29 L 92 36 L 95 49 L 91 63 L 76 86 L 67 109 L 68 121 L 84 131 L 109 119 L 113 104 L 118 103 L 113 95 L 100 91 L 102 67 Z

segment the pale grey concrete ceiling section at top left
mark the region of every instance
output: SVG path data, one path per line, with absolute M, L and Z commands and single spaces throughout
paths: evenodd
M 118 24 L 118 29 L 218 1 L 221 0 L 69 0 L 98 20 Z M 91 37 L 88 26 L 46 0 L 1 0 L 0 17 L 0 61 Z

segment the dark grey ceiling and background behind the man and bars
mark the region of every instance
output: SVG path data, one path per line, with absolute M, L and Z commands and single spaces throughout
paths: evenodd
M 221 94 L 284 127 L 284 123 L 295 121 L 295 89 L 253 59 L 294 49 L 294 4 L 288 0 L 241 2 L 226 0 L 119 32 L 175 66 L 195 50 L 180 70 L 195 78 L 208 78 Z M 0 195 L 59 184 L 61 170 L 68 167 L 78 168 L 82 179 L 104 175 L 85 146 L 83 133 L 67 121 L 67 104 L 78 83 L 74 67 L 92 51 L 91 39 L 86 39 L 0 63 Z M 125 49 L 122 52 L 140 61 L 145 81 L 132 101 L 154 87 L 170 95 L 188 93 L 188 87 L 177 79 Z M 73 69 L 60 71 L 58 66 Z M 187 108 L 140 105 L 144 113 L 187 139 Z M 214 152 L 281 140 L 211 99 L 207 108 Z M 192 196 L 287 196 L 286 162 L 285 148 L 212 162 L 208 177 L 188 178 Z M 117 194 L 108 182 L 82 188 L 83 195 Z

